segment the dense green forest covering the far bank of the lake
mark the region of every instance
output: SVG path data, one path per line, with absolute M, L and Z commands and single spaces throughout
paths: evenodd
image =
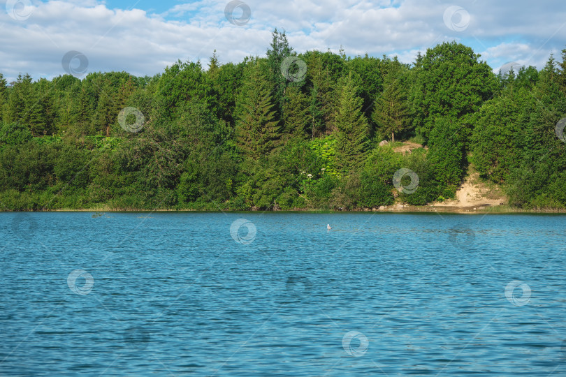
M 512 207 L 564 209 L 566 49 L 541 70 L 496 74 L 480 58 L 456 42 L 412 64 L 298 54 L 275 29 L 266 56 L 238 64 L 215 53 L 152 77 L 0 73 L 0 207 L 427 205 L 472 167 Z M 408 140 L 423 147 L 393 150 Z M 395 182 L 400 170 L 416 189 L 399 189 L 412 182 Z

